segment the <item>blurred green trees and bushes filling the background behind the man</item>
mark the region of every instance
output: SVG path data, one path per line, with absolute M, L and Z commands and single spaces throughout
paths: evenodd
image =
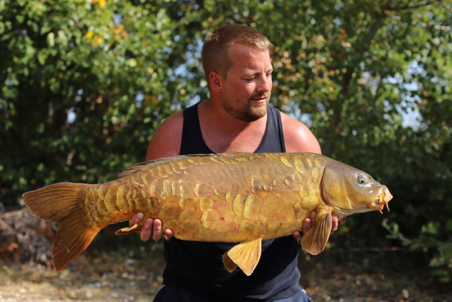
M 0 0 L 0 211 L 144 161 L 161 121 L 208 97 L 200 48 L 225 24 L 276 46 L 272 104 L 394 195 L 328 248 L 405 249 L 450 283 L 450 1 Z

